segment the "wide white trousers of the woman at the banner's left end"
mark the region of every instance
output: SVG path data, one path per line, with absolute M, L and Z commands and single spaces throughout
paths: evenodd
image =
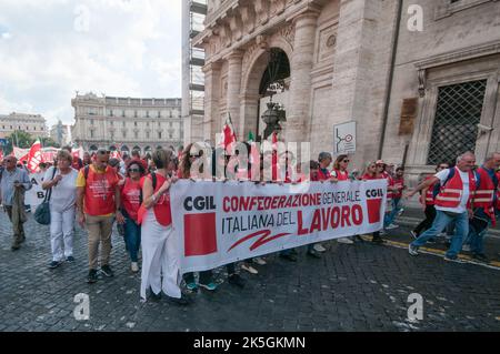
M 160 225 L 154 212 L 149 210 L 142 222 L 141 239 L 141 297 L 146 300 L 146 291 L 151 286 L 154 294 L 163 291 L 168 296 L 180 299 L 180 251 L 172 226 Z

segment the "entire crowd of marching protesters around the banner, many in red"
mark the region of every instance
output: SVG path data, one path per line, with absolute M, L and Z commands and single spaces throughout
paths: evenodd
M 107 150 L 86 152 L 83 159 L 73 156 L 71 149 L 60 150 L 53 163 L 40 164 L 42 188 L 51 193 L 52 260 L 49 267 L 74 262 L 72 239 L 77 221 L 88 233 L 88 283 L 99 280 L 99 271 L 104 276 L 113 276 L 111 234 L 117 224 L 130 257 L 130 271 L 141 272 L 140 295 L 143 300 L 159 299 L 163 292 L 170 301 L 188 304 L 190 301 L 180 286 L 182 279 L 187 291 L 197 291 L 199 286 L 214 291 L 217 284 L 212 271 L 200 272 L 198 276 L 194 273 L 180 276 L 179 245 L 173 236 L 171 216 L 174 206 L 170 205 L 169 193 L 179 179 L 238 180 L 261 185 L 383 179 L 388 181 L 383 229 L 374 232 L 371 241 L 383 243 L 384 230 L 398 227 L 393 222 L 402 213 L 401 201 L 407 189 L 403 166 L 394 171 L 394 165 L 378 160 L 367 163 L 363 171 L 349 171 L 350 159 L 346 154 L 333 160 L 331 153 L 321 152 L 318 160 L 298 163 L 290 151 L 256 153 L 252 149 L 243 143 L 229 155 L 223 148 L 190 144 L 179 152 L 173 148 L 159 149 L 147 155 L 133 151 L 121 159 L 110 158 Z M 422 183 L 407 192 L 406 198 L 420 193 L 426 215 L 411 231 L 416 240 L 409 245 L 409 253 L 418 255 L 419 247 L 436 240 L 448 227 L 452 236 L 447 261 L 457 261 L 462 246 L 468 246 L 476 260 L 487 262 L 484 235 L 500 213 L 499 166 L 500 153 L 488 155 L 478 166 L 474 154 L 466 152 L 458 156 L 454 166 L 440 163 L 436 174 L 424 176 Z M 31 182 L 23 164 L 12 155 L 3 159 L 0 173 L 1 201 L 13 226 L 11 247 L 17 251 L 26 240 L 24 193 L 30 190 Z M 361 241 L 360 236 L 337 240 L 343 244 Z M 321 243 L 307 246 L 307 255 L 314 259 L 320 259 L 326 251 Z M 279 256 L 297 262 L 297 250 L 289 249 L 281 251 Z M 266 265 L 263 257 L 227 264 L 228 282 L 243 287 L 246 282 L 238 269 L 258 274 L 258 266 L 262 265 Z

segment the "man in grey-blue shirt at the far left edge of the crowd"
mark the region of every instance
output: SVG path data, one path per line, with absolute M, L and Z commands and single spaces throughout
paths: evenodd
M 26 169 L 18 168 L 18 160 L 9 155 L 4 160 L 6 168 L 0 181 L 0 194 L 6 212 L 9 214 L 13 229 L 11 250 L 17 251 L 24 242 L 24 227 L 27 221 L 24 212 L 24 192 L 31 189 L 30 178 Z

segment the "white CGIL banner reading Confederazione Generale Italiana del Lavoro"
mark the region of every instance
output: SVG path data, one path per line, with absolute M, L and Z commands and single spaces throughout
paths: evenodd
M 182 273 L 379 231 L 387 181 L 302 183 L 193 182 L 171 190 Z

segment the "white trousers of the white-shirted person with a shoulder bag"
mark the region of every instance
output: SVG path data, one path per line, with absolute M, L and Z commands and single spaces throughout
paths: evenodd
M 50 211 L 50 245 L 52 261 L 61 262 L 73 255 L 73 227 L 76 209 Z

